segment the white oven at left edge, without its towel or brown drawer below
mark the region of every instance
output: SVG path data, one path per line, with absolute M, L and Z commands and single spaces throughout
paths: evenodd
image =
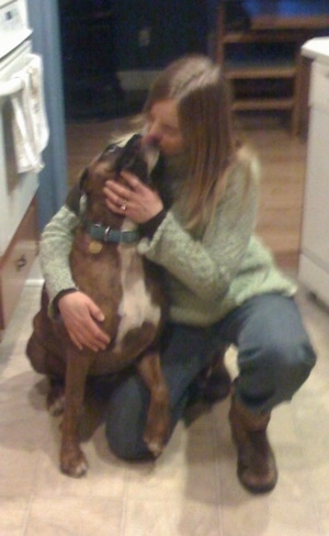
M 18 174 L 11 125 L 11 96 L 22 87 L 12 76 L 32 51 L 24 0 L 0 0 L 0 257 L 37 190 L 35 172 Z

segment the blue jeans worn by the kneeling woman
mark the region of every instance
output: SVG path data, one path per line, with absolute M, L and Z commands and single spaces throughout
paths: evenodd
M 223 344 L 238 348 L 235 392 L 256 413 L 291 400 L 316 361 L 295 301 L 280 294 L 254 297 L 211 327 L 168 324 L 160 355 L 170 394 L 171 432 L 184 412 L 189 387 Z M 149 457 L 143 440 L 148 402 L 148 390 L 137 373 L 124 375 L 113 389 L 106 437 L 118 457 Z

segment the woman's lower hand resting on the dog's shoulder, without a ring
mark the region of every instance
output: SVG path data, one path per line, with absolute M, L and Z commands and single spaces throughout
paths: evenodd
M 83 346 L 98 351 L 105 349 L 110 343 L 109 335 L 97 322 L 103 322 L 100 308 L 83 292 L 70 292 L 58 300 L 63 322 L 72 343 L 81 350 Z

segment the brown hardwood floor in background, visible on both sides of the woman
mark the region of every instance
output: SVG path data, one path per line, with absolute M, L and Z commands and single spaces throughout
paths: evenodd
M 241 137 L 261 160 L 262 182 L 257 233 L 273 250 L 277 264 L 295 273 L 298 264 L 302 206 L 306 169 L 306 142 L 292 137 L 281 116 L 239 116 Z M 120 131 L 126 119 L 101 123 L 67 124 L 68 182 Z

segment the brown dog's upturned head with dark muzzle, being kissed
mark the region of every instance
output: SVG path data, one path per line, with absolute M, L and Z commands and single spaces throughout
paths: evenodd
M 134 135 L 124 147 L 107 145 L 84 169 L 80 178 L 80 190 L 87 194 L 88 211 L 99 219 L 109 215 L 103 188 L 106 180 L 123 181 L 121 172 L 131 171 L 143 182 L 151 186 L 150 174 L 159 157 L 159 150 L 141 143 L 139 134 Z

